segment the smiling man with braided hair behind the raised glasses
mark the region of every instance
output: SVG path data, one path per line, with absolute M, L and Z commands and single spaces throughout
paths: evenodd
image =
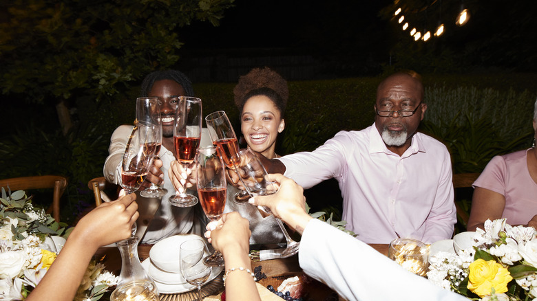
M 141 96 L 152 96 L 160 101 L 160 116 L 162 120 L 162 146 L 158 156 L 160 159 L 153 160 L 153 165 L 147 173 L 146 181 L 142 184 L 144 188 L 151 183 L 156 185 L 164 183 L 164 188 L 168 190 L 167 195 L 160 200 L 150 200 L 140 197 L 137 199 L 140 208 L 145 203 L 159 203 L 160 207 L 154 216 L 149 217 L 147 232 L 142 238 L 143 243 L 156 243 L 162 238 L 175 234 L 194 233 L 201 234 L 205 224 L 204 214 L 196 205 L 192 208 L 178 208 L 169 203 L 168 198 L 176 193 L 168 177 L 168 169 L 172 161 L 176 158 L 173 155 L 173 122 L 178 105 L 179 96 L 194 96 L 194 91 L 190 80 L 176 70 L 154 71 L 147 75 L 141 87 Z M 121 125 L 112 134 L 109 156 L 105 161 L 103 172 L 107 181 L 119 184 L 121 179 L 121 161 L 127 145 L 128 137 L 133 129 L 131 125 Z M 209 134 L 204 129 L 202 131 L 201 146 L 212 145 Z M 140 212 L 141 213 L 141 212 Z M 143 214 L 140 219 L 144 219 Z

